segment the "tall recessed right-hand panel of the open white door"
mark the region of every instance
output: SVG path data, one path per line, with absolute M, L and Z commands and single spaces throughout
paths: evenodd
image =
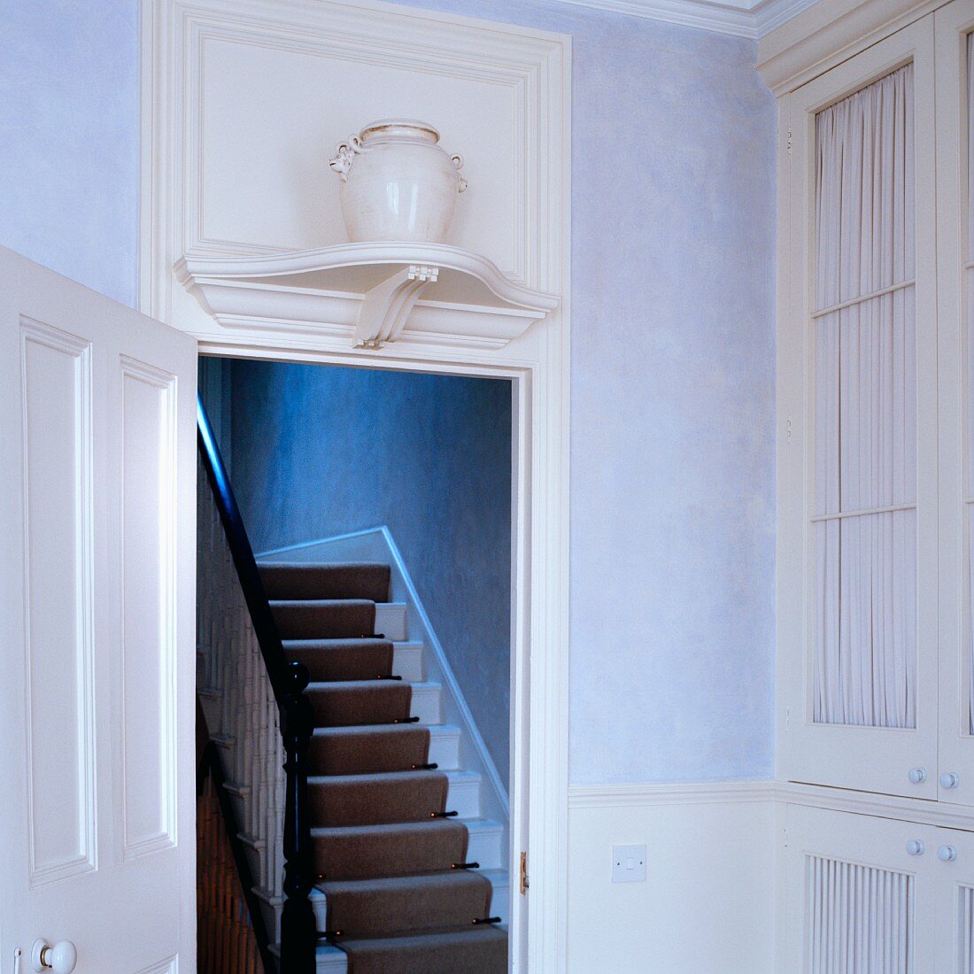
M 123 357 L 121 382 L 125 856 L 131 859 L 174 842 L 176 418 L 172 376 Z

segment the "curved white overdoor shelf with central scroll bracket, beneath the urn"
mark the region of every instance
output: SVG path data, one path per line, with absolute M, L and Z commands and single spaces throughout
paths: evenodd
M 187 254 L 179 281 L 228 328 L 500 349 L 559 298 L 510 281 L 486 257 L 448 244 L 341 244 L 256 257 Z

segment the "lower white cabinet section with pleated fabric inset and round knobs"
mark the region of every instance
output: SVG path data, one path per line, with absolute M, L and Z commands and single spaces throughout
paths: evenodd
M 790 805 L 779 969 L 972 974 L 974 834 Z

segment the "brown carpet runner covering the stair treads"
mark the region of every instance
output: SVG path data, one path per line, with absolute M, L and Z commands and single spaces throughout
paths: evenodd
M 390 568 L 264 563 L 284 652 L 311 675 L 318 727 L 309 780 L 327 933 L 350 974 L 502 974 L 507 935 L 490 924 L 491 884 L 466 862 L 467 827 L 447 811 L 430 731 L 408 718 L 412 687 L 374 632 Z

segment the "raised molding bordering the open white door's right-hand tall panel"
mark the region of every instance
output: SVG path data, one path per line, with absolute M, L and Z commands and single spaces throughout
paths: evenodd
M 125 432 L 126 426 L 126 395 L 124 386 L 127 380 L 141 383 L 159 395 L 159 443 L 157 461 L 159 464 L 159 511 L 158 523 L 160 527 L 159 544 L 159 580 L 158 580 L 158 613 L 159 613 L 159 632 L 156 650 L 159 653 L 158 671 L 156 675 L 159 690 L 159 725 L 153 731 L 153 736 L 158 744 L 158 763 L 159 777 L 155 785 L 158 789 L 155 795 L 152 794 L 152 780 L 137 781 L 131 780 L 131 767 L 139 768 L 146 762 L 144 751 L 136 750 L 131 753 L 131 742 L 129 731 L 131 720 L 144 720 L 146 714 L 137 706 L 132 706 L 137 701 L 134 699 L 136 694 L 129 693 L 129 682 L 127 674 L 131 672 L 131 665 L 128 654 L 134 650 L 133 643 L 129 640 L 128 634 L 123 629 L 123 652 L 122 659 L 122 686 L 124 693 L 122 696 L 122 755 L 123 755 L 123 780 L 124 780 L 124 800 L 125 818 L 123 823 L 124 851 L 126 860 L 135 859 L 140 855 L 147 855 L 158 849 L 168 848 L 176 842 L 176 748 L 178 742 L 178 728 L 176 717 L 176 654 L 178 652 L 176 642 L 176 522 L 178 517 L 177 505 L 177 474 L 176 474 L 176 445 L 177 436 L 177 413 L 176 413 L 176 379 L 162 369 L 156 368 L 145 362 L 138 361 L 130 356 L 120 356 L 119 358 L 119 379 L 123 386 L 120 393 L 122 403 L 122 443 L 123 454 L 128 448 L 128 441 Z M 127 464 L 123 459 L 123 468 Z M 127 512 L 127 505 L 123 505 L 123 518 Z M 122 530 L 123 538 L 126 535 L 125 523 Z M 123 544 L 123 557 L 125 547 Z M 122 574 L 123 580 L 127 578 L 125 572 Z M 122 591 L 122 618 L 127 618 L 129 601 L 123 583 Z M 130 764 L 131 762 L 131 764 Z M 158 828 L 149 831 L 141 831 L 132 827 L 131 812 L 132 803 L 140 805 L 151 805 L 158 802 L 156 817 L 158 818 Z

